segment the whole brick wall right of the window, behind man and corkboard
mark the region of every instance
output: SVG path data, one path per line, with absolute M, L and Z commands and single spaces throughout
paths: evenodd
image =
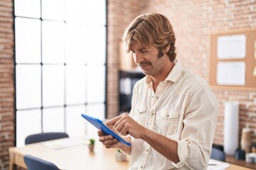
M 111 8 L 110 8 L 111 7 Z M 237 28 L 256 27 L 255 0 L 202 1 L 202 0 L 144 0 L 119 2 L 109 1 L 108 21 L 108 113 L 117 115 L 118 98 L 118 48 L 119 35 L 127 24 L 139 13 L 156 11 L 168 16 L 176 32 L 177 59 L 183 67 L 191 69 L 209 80 L 210 33 Z M 110 63 L 114 61 L 114 64 Z M 114 81 L 113 81 L 114 79 Z M 255 84 L 256 86 L 256 84 Z M 223 145 L 224 105 L 226 101 L 240 102 L 240 135 L 242 128 L 252 130 L 252 141 L 256 142 L 256 91 L 213 89 L 218 98 L 218 125 L 215 144 Z M 114 98 L 112 98 L 114 97 Z

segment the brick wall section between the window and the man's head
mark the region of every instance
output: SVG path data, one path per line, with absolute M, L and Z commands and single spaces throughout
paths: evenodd
M 137 16 L 139 1 L 108 0 L 107 6 L 107 113 L 113 118 L 119 112 L 119 43 L 129 21 Z

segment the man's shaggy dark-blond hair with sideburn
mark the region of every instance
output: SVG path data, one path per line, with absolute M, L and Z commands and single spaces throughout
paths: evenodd
M 127 45 L 126 52 L 131 51 L 135 42 L 148 50 L 156 47 L 161 54 L 170 45 L 167 55 L 171 62 L 176 59 L 174 30 L 168 18 L 160 13 L 144 13 L 134 18 L 124 31 L 122 40 Z

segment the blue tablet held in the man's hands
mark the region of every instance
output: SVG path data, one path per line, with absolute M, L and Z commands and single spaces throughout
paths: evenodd
M 85 115 L 82 114 L 82 118 L 85 118 L 85 120 L 87 120 L 88 122 L 90 122 L 92 125 L 94 125 L 97 129 L 101 129 L 102 132 L 105 135 L 112 135 L 114 138 L 116 138 L 119 142 L 122 142 L 125 145 L 131 146 L 131 144 L 129 142 L 126 142 L 122 137 L 120 137 L 119 135 L 117 135 L 116 132 L 114 132 L 113 130 L 111 130 L 107 125 L 105 125 L 104 123 L 102 123 L 102 120 L 97 119 L 97 118 L 93 118 L 89 115 Z

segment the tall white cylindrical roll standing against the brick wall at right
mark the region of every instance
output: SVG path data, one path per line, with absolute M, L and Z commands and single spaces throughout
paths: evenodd
M 232 155 L 239 147 L 239 103 L 226 102 L 224 116 L 224 152 Z

